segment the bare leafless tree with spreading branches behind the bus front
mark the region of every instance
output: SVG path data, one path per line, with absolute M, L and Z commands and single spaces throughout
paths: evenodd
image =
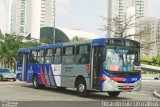
M 140 41 L 141 49 L 144 53 L 147 53 L 148 49 L 151 50 L 151 47 L 155 44 L 155 41 L 150 39 L 153 34 L 152 27 L 147 26 L 148 22 L 144 21 L 144 17 L 132 15 L 130 17 L 125 17 L 125 19 L 120 17 L 112 19 L 103 17 L 103 19 L 108 22 L 108 25 L 102 25 L 100 30 L 112 32 L 113 37 L 134 37 L 136 40 Z M 134 32 L 130 33 L 131 30 L 134 30 Z M 147 39 L 149 41 L 147 41 Z

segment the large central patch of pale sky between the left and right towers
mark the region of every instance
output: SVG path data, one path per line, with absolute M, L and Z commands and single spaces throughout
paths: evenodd
M 104 23 L 102 16 L 107 15 L 106 4 L 107 0 L 57 0 L 56 8 L 61 9 L 56 12 L 56 25 L 99 35 L 103 33 L 99 29 Z

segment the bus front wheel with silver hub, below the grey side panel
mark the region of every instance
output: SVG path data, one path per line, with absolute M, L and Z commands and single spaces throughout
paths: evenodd
M 87 86 L 84 79 L 79 79 L 77 82 L 77 94 L 80 97 L 86 97 L 88 95 Z

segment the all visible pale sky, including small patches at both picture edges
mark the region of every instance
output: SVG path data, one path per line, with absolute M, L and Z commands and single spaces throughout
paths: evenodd
M 0 0 L 0 29 L 5 31 L 8 24 L 9 0 Z M 56 26 L 79 29 L 104 35 L 99 30 L 105 24 L 107 0 L 56 0 Z M 148 16 L 160 17 L 160 0 L 149 0 Z

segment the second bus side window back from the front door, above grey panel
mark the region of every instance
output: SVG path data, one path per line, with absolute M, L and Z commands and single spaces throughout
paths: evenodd
M 69 46 L 63 48 L 63 58 L 62 63 L 63 64 L 74 64 L 74 53 L 75 53 L 75 47 Z

